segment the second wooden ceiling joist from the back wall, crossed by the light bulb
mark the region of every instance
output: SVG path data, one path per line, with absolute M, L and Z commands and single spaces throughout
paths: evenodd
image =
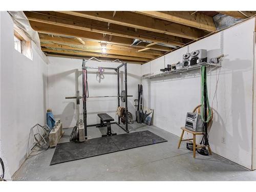
M 65 50 L 75 50 L 75 51 L 87 51 L 92 53 L 102 53 L 100 47 L 89 47 L 89 46 L 76 46 L 76 45 L 59 45 L 59 44 L 41 44 L 41 47 L 46 48 L 56 48 L 56 49 L 65 49 Z M 123 55 L 123 56 L 131 56 L 131 57 L 142 57 L 142 58 L 150 58 L 153 59 L 155 55 L 149 55 L 145 53 L 138 53 L 134 51 L 120 51 L 120 50 L 109 50 L 106 49 L 106 54 L 111 55 Z

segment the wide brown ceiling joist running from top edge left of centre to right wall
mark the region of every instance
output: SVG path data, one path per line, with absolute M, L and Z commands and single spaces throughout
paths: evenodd
M 136 14 L 128 11 L 117 11 L 113 17 L 112 11 L 59 11 L 61 13 L 71 14 L 80 17 L 101 20 L 102 22 L 109 22 L 117 25 L 143 29 L 147 31 L 154 31 L 157 33 L 164 33 L 168 35 L 197 39 L 206 35 L 202 30 L 190 28 L 188 26 L 170 23 L 165 20 L 151 18 L 148 16 Z

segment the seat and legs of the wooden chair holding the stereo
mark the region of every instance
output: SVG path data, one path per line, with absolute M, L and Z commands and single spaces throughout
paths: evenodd
M 196 143 L 196 135 L 203 135 L 202 132 L 190 131 L 190 130 L 186 129 L 186 127 L 184 127 L 184 126 L 183 126 L 183 127 L 180 127 L 180 129 L 182 130 L 182 133 L 181 133 L 181 136 L 180 136 L 178 148 L 180 148 L 180 143 L 181 143 L 181 141 L 188 141 L 188 142 L 193 143 L 193 157 L 194 157 L 194 158 L 196 158 L 196 150 L 197 150 L 198 148 L 203 148 L 203 147 L 208 147 L 209 154 L 212 155 L 209 145 L 205 146 L 205 145 L 200 145 L 200 144 L 197 144 L 197 143 Z M 183 139 L 183 134 L 184 134 L 184 132 L 188 132 L 188 133 L 193 134 L 193 138 L 192 138 L 192 139 Z M 191 141 L 191 140 L 193 140 L 193 141 Z M 197 145 L 197 146 L 196 146 L 196 145 Z

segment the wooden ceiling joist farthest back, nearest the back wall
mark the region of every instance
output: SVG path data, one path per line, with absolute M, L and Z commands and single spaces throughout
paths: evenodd
M 122 60 L 135 60 L 135 61 L 148 61 L 148 60 L 150 60 L 150 59 L 147 59 L 147 58 L 140 58 L 140 57 L 108 55 L 108 54 L 90 53 L 90 52 L 85 52 L 85 51 L 54 50 L 54 49 L 47 49 L 47 48 L 42 48 L 41 50 L 44 51 L 44 52 L 49 52 L 49 53 L 79 55 L 79 56 L 86 56 L 86 57 L 102 57 L 102 58 L 114 58 L 114 59 L 122 59 Z

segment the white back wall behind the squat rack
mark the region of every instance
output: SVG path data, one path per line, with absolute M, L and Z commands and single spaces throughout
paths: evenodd
M 73 127 L 76 124 L 76 104 L 75 99 L 65 99 L 65 96 L 74 96 L 76 93 L 76 75 L 79 71 L 79 91 L 82 93 L 81 65 L 82 59 L 49 57 L 48 65 L 48 83 L 49 83 L 49 108 L 53 110 L 55 117 L 60 118 L 63 127 Z M 121 63 L 98 62 L 90 60 L 87 66 L 92 67 L 117 67 Z M 123 71 L 123 68 L 120 68 Z M 135 118 L 134 99 L 138 95 L 138 84 L 141 82 L 141 66 L 136 64 L 127 64 L 127 94 L 129 97 L 128 108 Z M 104 79 L 100 82 L 95 69 L 88 70 L 89 96 L 117 95 L 117 73 L 114 70 L 105 70 Z M 120 72 L 120 90 L 124 89 L 124 75 Z M 82 100 L 80 100 L 81 102 Z M 124 104 L 124 103 L 123 103 Z M 88 98 L 87 112 L 88 124 L 99 123 L 98 113 L 108 113 L 117 120 L 115 115 L 117 109 L 117 98 Z M 80 114 L 82 113 L 82 104 L 80 104 Z

